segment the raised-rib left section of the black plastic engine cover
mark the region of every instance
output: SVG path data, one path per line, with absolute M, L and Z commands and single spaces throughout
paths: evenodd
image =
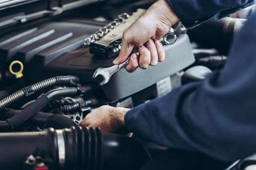
M 105 24 L 65 19 L 14 31 L 0 37 L 0 61 L 20 60 L 27 63 L 35 54 L 47 49 L 44 62 L 49 62 L 54 57 L 81 46 L 89 34 Z

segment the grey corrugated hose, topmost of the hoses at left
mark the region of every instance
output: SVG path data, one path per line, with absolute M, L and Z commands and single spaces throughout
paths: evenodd
M 7 108 L 9 105 L 17 102 L 18 100 L 20 100 L 21 98 L 29 94 L 36 93 L 38 91 L 52 87 L 54 85 L 75 85 L 79 82 L 80 80 L 76 76 L 58 76 L 58 77 L 53 77 L 53 78 L 43 80 L 34 85 L 24 87 L 21 90 L 2 99 L 0 101 L 0 111 L 3 110 L 4 108 Z

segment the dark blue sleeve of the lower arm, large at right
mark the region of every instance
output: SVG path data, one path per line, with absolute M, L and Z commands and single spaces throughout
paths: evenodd
M 256 152 L 256 13 L 225 68 L 131 109 L 125 123 L 161 145 L 233 161 Z

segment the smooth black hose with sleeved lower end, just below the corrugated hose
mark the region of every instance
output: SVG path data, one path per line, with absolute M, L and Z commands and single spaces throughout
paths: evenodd
M 49 101 L 57 97 L 74 96 L 78 94 L 76 87 L 54 89 L 39 97 L 35 102 L 24 108 L 19 114 L 5 121 L 0 121 L 0 128 L 2 130 L 10 130 L 20 126 L 23 122 L 34 116 L 41 109 L 43 109 Z M 7 124 L 6 124 L 7 122 Z

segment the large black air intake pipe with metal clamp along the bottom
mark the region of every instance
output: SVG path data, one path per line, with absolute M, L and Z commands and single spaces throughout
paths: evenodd
M 140 170 L 148 151 L 127 136 L 99 128 L 0 133 L 2 170 Z

